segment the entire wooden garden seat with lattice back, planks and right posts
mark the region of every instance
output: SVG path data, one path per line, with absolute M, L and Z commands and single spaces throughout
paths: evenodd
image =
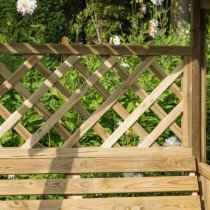
M 0 84 L 0 99 L 11 89 L 24 98 L 23 104 L 13 113 L 0 103 L 0 116 L 4 119 L 0 125 L 0 138 L 14 129 L 24 141 L 18 148 L 0 148 L 0 175 L 65 175 L 58 179 L 0 179 L 0 196 L 40 196 L 37 200 L 0 199 L 0 210 L 210 210 L 210 166 L 205 163 L 205 36 L 209 11 L 209 0 L 191 0 L 191 45 L 186 47 L 0 44 L 0 53 L 24 56 L 24 62 L 13 73 L 4 63 L 0 63 L 0 76 L 4 78 Z M 42 60 L 49 54 L 62 56 L 60 66 L 53 72 L 46 68 Z M 101 65 L 94 72 L 89 71 L 81 60 L 82 56 L 87 55 L 100 58 Z M 169 73 L 156 62 L 163 55 L 179 57 L 180 62 Z M 121 59 L 126 56 L 139 58 L 139 64 L 131 73 L 121 65 Z M 21 83 L 21 78 L 32 68 L 43 77 L 43 83 L 34 92 Z M 69 69 L 78 72 L 84 79 L 84 83 L 71 94 L 60 82 Z M 137 82 L 148 70 L 160 80 L 151 93 L 147 93 Z M 108 71 L 122 81 L 113 92 L 101 84 L 101 78 Z M 177 80 L 181 81 L 181 85 Z M 64 100 L 54 113 L 40 103 L 40 98 L 51 88 L 58 91 Z M 93 113 L 80 104 L 90 88 L 103 97 L 103 102 Z M 128 89 L 141 101 L 132 112 L 128 112 L 119 102 Z M 157 103 L 157 99 L 167 90 L 178 100 L 169 113 Z M 60 120 L 73 108 L 84 122 L 74 133 L 70 133 Z M 33 134 L 21 124 L 21 118 L 31 109 L 44 119 Z M 110 109 L 123 120 L 112 133 L 100 124 L 100 118 Z M 150 133 L 138 121 L 147 110 L 154 112 L 159 119 L 159 124 Z M 177 121 L 178 118 L 181 122 Z M 64 140 L 63 145 L 41 148 L 42 138 L 52 128 Z M 90 129 L 102 139 L 100 147 L 80 148 L 80 139 Z M 142 139 L 138 147 L 120 146 L 119 139 L 129 129 Z M 166 129 L 180 139 L 180 147 L 164 148 L 158 145 L 156 140 Z M 158 173 L 158 176 L 152 176 L 151 172 Z M 168 176 L 168 172 L 172 175 Z M 120 175 L 117 178 L 80 177 L 88 173 Z M 128 174 L 128 177 L 122 177 L 122 173 L 123 176 L 124 173 Z M 147 176 L 142 177 L 142 173 Z M 166 196 L 164 192 L 172 194 Z M 186 194 L 178 194 L 180 192 Z M 125 198 L 116 198 L 116 195 L 111 198 L 82 198 L 84 195 L 94 194 L 97 197 L 107 193 L 138 194 Z M 148 194 L 142 197 L 141 193 Z M 162 193 L 162 196 L 150 196 L 150 193 Z M 48 200 L 46 195 L 64 195 L 64 199 Z

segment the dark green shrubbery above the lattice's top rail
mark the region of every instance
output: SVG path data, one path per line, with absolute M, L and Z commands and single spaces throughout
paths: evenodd
M 139 1 L 38 0 L 34 14 L 22 16 L 16 0 L 7 0 L 0 4 L 0 42 L 58 43 L 67 36 L 71 43 L 106 43 L 118 35 L 123 42 L 143 44 L 151 40 L 151 19 L 159 22 L 156 38 L 165 40 L 170 33 L 169 4 L 144 2 L 146 13 Z

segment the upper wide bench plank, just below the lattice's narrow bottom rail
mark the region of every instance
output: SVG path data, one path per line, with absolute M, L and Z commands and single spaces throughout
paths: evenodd
M 26 167 L 27 166 L 27 167 Z M 100 172 L 194 172 L 193 157 L 168 156 L 141 158 L 55 158 L 55 159 L 0 159 L 0 174 L 38 173 L 100 173 Z

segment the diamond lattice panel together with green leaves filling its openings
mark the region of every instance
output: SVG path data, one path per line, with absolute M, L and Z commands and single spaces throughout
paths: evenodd
M 183 111 L 182 93 L 174 81 L 182 75 L 183 65 L 166 74 L 156 60 L 153 56 L 71 55 L 54 60 L 31 56 L 13 73 L 1 64 L 0 137 L 14 129 L 24 139 L 22 148 L 149 147 L 169 129 L 182 140 L 175 122 Z M 169 111 L 160 103 L 168 88 L 177 99 Z M 23 100 L 9 113 L 3 97 L 12 89 Z M 27 118 L 30 112 L 33 116 Z M 147 115 L 154 116 L 155 126 L 146 126 Z

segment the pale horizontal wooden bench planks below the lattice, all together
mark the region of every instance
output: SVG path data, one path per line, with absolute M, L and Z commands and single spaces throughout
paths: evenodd
M 123 176 L 122 173 L 143 173 Z M 153 176 L 155 173 L 156 176 Z M 170 172 L 170 173 L 169 173 Z M 199 210 L 195 158 L 188 148 L 1 149 L 0 174 L 119 173 L 107 178 L 2 179 L 0 196 L 66 195 L 3 200 L 0 210 Z M 158 175 L 158 176 L 157 176 Z M 124 194 L 124 197 L 119 194 Z M 84 195 L 110 194 L 103 198 Z M 83 195 L 68 199 L 67 195 Z M 86 196 L 87 197 L 87 196 Z M 91 197 L 91 196 L 89 196 Z

